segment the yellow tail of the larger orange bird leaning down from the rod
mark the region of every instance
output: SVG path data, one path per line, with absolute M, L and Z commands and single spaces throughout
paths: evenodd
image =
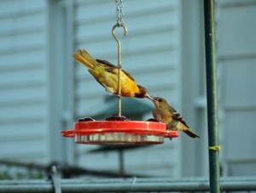
M 73 58 L 83 65 L 86 65 L 89 69 L 92 69 L 98 63 L 94 58 L 90 56 L 84 49 L 79 49 L 76 54 L 73 54 Z

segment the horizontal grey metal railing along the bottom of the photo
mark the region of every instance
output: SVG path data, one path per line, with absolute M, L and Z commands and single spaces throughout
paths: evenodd
M 59 182 L 58 182 L 59 181 Z M 58 184 L 59 187 L 55 187 Z M 256 177 L 225 177 L 220 179 L 221 191 L 256 190 Z M 53 179 L 1 180 L 4 192 L 198 192 L 209 191 L 209 180 L 202 178 L 129 178 L 129 179 Z

